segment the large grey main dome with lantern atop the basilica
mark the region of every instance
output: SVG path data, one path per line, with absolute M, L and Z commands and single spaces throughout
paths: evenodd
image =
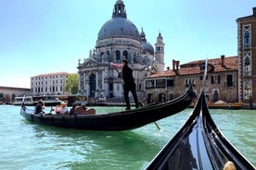
M 117 0 L 112 18 L 110 18 L 98 31 L 97 40 L 126 37 L 140 40 L 139 32 L 134 23 L 126 18 L 126 11 L 122 0 Z

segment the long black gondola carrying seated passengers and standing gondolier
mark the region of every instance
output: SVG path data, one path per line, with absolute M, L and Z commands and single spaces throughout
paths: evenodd
M 193 97 L 194 91 L 189 87 L 183 95 L 166 103 L 149 104 L 131 111 L 103 115 L 35 115 L 33 110 L 22 104 L 20 115 L 34 123 L 60 128 L 120 131 L 140 128 L 161 118 L 177 114 L 186 109 Z

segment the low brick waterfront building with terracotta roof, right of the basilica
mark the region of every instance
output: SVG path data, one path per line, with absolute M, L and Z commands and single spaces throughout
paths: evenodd
M 237 96 L 237 56 L 208 60 L 208 75 L 205 82 L 205 93 L 209 102 L 223 100 L 228 103 L 238 102 Z M 201 90 L 205 60 L 198 60 L 180 65 L 173 60 L 173 69 L 152 73 L 145 80 L 147 103 L 173 100 L 192 84 L 193 90 Z

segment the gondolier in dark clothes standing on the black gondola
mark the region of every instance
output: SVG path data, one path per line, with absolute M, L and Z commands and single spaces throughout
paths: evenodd
M 138 98 L 136 94 L 136 84 L 134 83 L 133 69 L 128 67 L 128 61 L 126 59 L 122 60 L 122 79 L 123 84 L 123 95 L 126 103 L 126 110 L 131 110 L 131 104 L 129 100 L 129 91 L 132 92 L 134 97 L 135 107 L 139 107 Z

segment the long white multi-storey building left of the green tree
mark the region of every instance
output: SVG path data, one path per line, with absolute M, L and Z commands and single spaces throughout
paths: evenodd
M 32 96 L 64 94 L 64 86 L 69 74 L 57 72 L 31 77 Z

